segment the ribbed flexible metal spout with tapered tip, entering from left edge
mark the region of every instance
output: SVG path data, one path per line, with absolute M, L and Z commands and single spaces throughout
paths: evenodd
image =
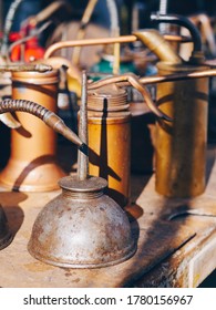
M 79 146 L 81 152 L 86 152 L 88 146 L 72 132 L 64 122 L 53 112 L 42 105 L 27 100 L 4 100 L 0 102 L 0 114 L 6 112 L 25 112 L 41 118 L 48 126 Z

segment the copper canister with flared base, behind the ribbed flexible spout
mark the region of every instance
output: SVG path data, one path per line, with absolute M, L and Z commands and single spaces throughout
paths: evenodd
M 13 72 L 12 99 L 39 103 L 56 112 L 58 71 Z M 0 174 L 2 186 L 14 190 L 45 192 L 58 189 L 64 172 L 56 164 L 56 134 L 41 120 L 18 112 L 22 124 L 11 132 L 11 154 Z

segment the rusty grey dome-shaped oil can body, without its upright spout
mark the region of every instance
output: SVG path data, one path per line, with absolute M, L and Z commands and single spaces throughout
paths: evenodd
M 65 268 L 120 264 L 136 250 L 128 219 L 103 194 L 106 180 L 90 177 L 60 180 L 63 192 L 39 214 L 29 251 L 41 261 Z

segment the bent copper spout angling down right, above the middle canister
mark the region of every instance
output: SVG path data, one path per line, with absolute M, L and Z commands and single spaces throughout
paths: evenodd
M 102 85 L 104 86 L 104 85 L 117 83 L 117 82 L 128 82 L 134 89 L 136 89 L 142 94 L 147 106 L 157 117 L 172 122 L 172 118 L 169 116 L 167 116 L 166 114 L 164 114 L 163 112 L 161 112 L 158 110 L 158 107 L 154 104 L 147 89 L 141 84 L 141 82 L 138 81 L 138 78 L 133 73 L 127 73 L 127 74 L 122 74 L 122 75 L 114 76 L 114 78 L 111 76 L 111 78 L 103 79 L 99 82 L 90 84 L 88 86 L 88 89 L 94 90 L 94 89 L 101 87 Z

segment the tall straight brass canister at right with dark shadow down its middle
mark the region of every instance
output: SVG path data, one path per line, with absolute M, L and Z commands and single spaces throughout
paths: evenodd
M 204 65 L 160 62 L 158 73 L 192 73 Z M 156 190 L 167 197 L 194 197 L 205 190 L 208 78 L 157 85 L 157 104 L 173 122 L 156 126 Z

